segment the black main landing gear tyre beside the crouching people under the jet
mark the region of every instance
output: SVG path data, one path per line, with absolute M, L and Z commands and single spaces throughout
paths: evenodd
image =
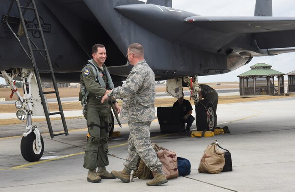
M 206 109 L 209 112 L 207 115 Z M 196 106 L 196 126 L 197 131 L 211 130 L 214 127 L 214 108 L 210 100 L 200 100 Z

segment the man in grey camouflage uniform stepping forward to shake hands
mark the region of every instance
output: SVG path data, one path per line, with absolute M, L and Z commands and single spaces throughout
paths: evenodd
M 108 97 L 123 99 L 121 118 L 128 121 L 130 129 L 125 168 L 111 173 L 123 182 L 130 182 L 130 173 L 136 170 L 140 157 L 148 168 L 156 173 L 147 185 L 160 185 L 167 183 L 167 179 L 151 146 L 149 130 L 155 117 L 155 74 L 145 62 L 143 54 L 142 45 L 134 43 L 129 46 L 126 57 L 134 67 L 121 87 L 114 88 L 102 98 L 102 101 Z

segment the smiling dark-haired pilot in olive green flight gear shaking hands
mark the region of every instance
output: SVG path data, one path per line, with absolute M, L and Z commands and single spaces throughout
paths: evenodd
M 87 99 L 82 104 L 83 114 L 87 120 L 89 139 L 85 149 L 84 168 L 89 169 L 87 181 L 99 182 L 103 179 L 114 179 L 111 173 L 107 172 L 105 166 L 108 160 L 108 120 L 110 114 L 109 102 L 101 103 L 102 96 L 107 90 L 114 88 L 112 79 L 104 64 L 106 50 L 102 44 L 95 44 L 92 47 L 92 60 L 88 60 L 81 71 L 81 87 L 86 88 Z M 120 107 L 116 100 L 111 100 L 117 113 Z M 96 172 L 96 168 L 98 171 Z

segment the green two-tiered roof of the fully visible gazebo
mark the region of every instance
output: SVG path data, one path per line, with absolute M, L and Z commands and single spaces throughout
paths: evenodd
M 253 66 L 251 66 L 251 70 L 246 71 L 237 77 L 243 77 L 243 76 L 279 76 L 279 75 L 285 75 L 282 72 L 276 71 L 271 69 L 271 65 L 265 64 L 265 63 L 257 63 Z

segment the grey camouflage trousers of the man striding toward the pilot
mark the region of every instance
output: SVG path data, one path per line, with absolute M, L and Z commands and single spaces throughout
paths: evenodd
M 156 173 L 162 173 L 162 163 L 151 146 L 151 122 L 128 122 L 130 134 L 128 138 L 128 155 L 124 163 L 125 171 L 136 170 L 140 157 L 146 166 Z

